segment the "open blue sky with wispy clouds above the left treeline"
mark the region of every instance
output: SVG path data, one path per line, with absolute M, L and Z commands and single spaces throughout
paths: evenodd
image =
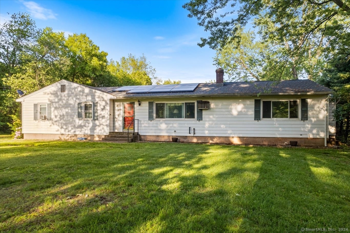
M 205 83 L 215 79 L 215 51 L 197 43 L 207 33 L 187 17 L 187 1 L 4 1 L 0 20 L 26 12 L 38 28 L 85 33 L 108 59 L 144 54 L 163 80 Z

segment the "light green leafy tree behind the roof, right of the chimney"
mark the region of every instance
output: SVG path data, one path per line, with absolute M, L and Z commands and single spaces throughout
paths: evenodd
M 258 35 L 268 34 L 271 31 L 269 24 L 271 22 L 265 19 Z M 244 28 L 239 28 L 237 35 L 239 39 L 235 38 L 224 48 L 217 49 L 214 58 L 215 64 L 224 68 L 230 81 L 312 79 L 321 75 L 324 59 L 318 55 L 311 56 L 313 46 L 299 54 L 300 57 L 290 56 L 290 38 L 285 38 L 283 43 L 272 38 L 261 40 L 257 39 L 254 31 L 244 31 Z M 293 41 L 299 42 L 296 39 Z M 312 42 L 310 40 L 308 44 Z

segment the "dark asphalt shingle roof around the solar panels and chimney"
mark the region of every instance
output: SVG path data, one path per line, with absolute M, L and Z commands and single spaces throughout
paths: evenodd
M 107 92 L 118 98 L 133 97 L 178 97 L 178 96 L 248 96 L 271 94 L 329 94 L 331 89 L 317 84 L 309 79 L 281 80 L 281 81 L 253 81 L 228 82 L 223 86 L 216 83 L 200 83 L 193 92 L 163 92 L 163 93 L 130 93 L 115 92 L 118 87 L 94 87 L 94 89 Z

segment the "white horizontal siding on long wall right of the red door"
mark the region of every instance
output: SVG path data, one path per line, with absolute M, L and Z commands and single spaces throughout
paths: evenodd
M 272 97 L 260 97 L 271 100 Z M 140 99 L 135 106 L 135 119 L 140 120 L 141 135 L 190 136 L 239 136 L 239 137 L 324 137 L 325 96 L 286 96 L 286 99 L 308 98 L 308 120 L 262 119 L 254 121 L 254 99 L 256 97 L 203 98 L 210 101 L 210 108 L 203 110 L 203 120 L 155 119 L 148 120 L 148 102 L 161 103 L 163 99 Z M 279 98 L 276 98 L 279 100 Z M 116 100 L 117 101 L 117 100 Z M 124 101 L 134 101 L 124 100 Z M 191 102 L 193 98 L 169 98 L 167 102 Z M 116 105 L 117 106 L 117 105 Z M 300 105 L 299 105 L 300 107 Z M 121 110 L 119 110 L 121 111 Z M 299 113 L 300 116 L 300 113 Z M 189 134 L 191 127 L 191 134 Z M 176 131 L 176 132 L 174 132 Z

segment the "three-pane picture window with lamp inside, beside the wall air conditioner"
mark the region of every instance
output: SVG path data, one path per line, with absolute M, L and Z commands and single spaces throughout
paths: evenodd
M 195 119 L 195 102 L 156 103 L 156 119 Z

